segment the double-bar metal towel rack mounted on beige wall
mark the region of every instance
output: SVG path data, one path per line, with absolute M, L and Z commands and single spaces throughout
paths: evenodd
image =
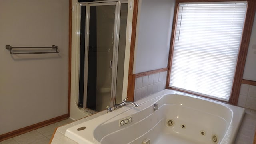
M 10 51 L 10 54 L 50 54 L 50 53 L 59 53 L 57 51 L 58 47 L 55 45 L 52 45 L 51 47 L 12 47 L 10 45 L 5 45 L 5 48 Z M 13 52 L 12 49 L 36 49 L 36 48 L 52 48 L 55 49 L 55 51 L 46 51 L 46 52 Z

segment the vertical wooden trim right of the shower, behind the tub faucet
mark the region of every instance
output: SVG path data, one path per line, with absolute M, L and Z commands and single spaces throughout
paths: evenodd
M 138 4 L 139 4 L 138 0 L 134 0 L 133 16 L 132 16 L 132 37 L 131 37 L 129 73 L 128 73 L 128 87 L 127 87 L 127 97 L 129 101 L 134 101 L 135 75 L 132 74 L 132 71 L 133 71 L 134 50 L 135 50 L 135 40 L 136 40 Z

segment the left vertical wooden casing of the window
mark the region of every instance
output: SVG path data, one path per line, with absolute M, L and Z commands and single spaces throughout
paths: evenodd
M 176 2 L 175 7 L 174 7 L 174 17 L 173 17 L 173 22 L 172 22 L 172 35 L 171 35 L 170 51 L 169 51 L 169 58 L 168 58 L 168 72 L 167 72 L 166 88 L 169 87 L 170 76 L 171 76 L 172 54 L 173 54 L 173 50 L 174 50 L 174 40 L 175 40 L 175 33 L 176 33 L 176 26 L 177 26 L 178 9 L 179 9 L 179 3 Z

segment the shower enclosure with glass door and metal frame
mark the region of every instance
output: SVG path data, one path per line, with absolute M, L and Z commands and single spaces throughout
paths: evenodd
M 122 102 L 128 1 L 80 4 L 78 106 L 89 112 Z

